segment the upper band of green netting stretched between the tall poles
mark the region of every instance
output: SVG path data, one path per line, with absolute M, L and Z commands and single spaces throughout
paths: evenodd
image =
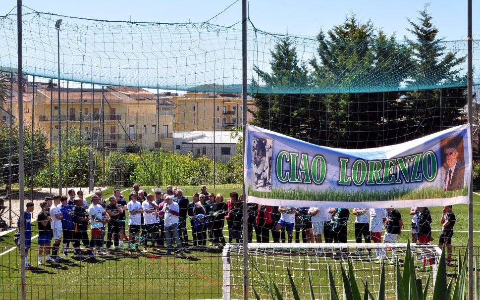
M 63 19 L 60 79 L 206 92 L 213 91 L 208 84 L 214 82 L 216 92 L 241 92 L 240 20 L 225 27 L 208 22 L 101 21 L 29 11 L 23 16 L 24 73 L 58 77 L 54 24 L 59 18 Z M 5 71 L 17 66 L 16 30 L 15 15 L 0 19 L 0 67 Z M 293 73 L 277 74 L 271 67 L 272 51 L 285 39 L 249 22 L 250 93 L 365 93 L 467 85 L 467 41 L 436 41 L 433 47 L 442 55 L 431 57 L 419 70 L 415 61 L 420 45 L 414 42 L 398 42 L 387 36 L 341 43 L 322 33 L 319 37 L 290 36 L 287 39 L 297 52 L 297 66 L 306 70 L 299 79 Z M 480 59 L 479 42 L 474 41 L 474 69 L 478 69 Z M 478 74 L 474 82 L 480 82 Z

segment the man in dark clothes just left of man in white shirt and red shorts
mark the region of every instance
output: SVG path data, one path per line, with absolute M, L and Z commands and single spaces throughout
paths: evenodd
M 73 208 L 73 249 L 75 256 L 81 256 L 80 241 L 87 249 L 90 248 L 90 240 L 88 239 L 88 221 L 89 214 L 83 207 L 83 199 L 75 199 L 75 207 Z M 93 252 L 89 250 L 89 255 L 94 256 Z

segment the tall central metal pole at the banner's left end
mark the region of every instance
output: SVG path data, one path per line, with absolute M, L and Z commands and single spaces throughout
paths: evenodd
M 247 153 L 247 0 L 242 0 L 242 100 L 243 100 L 243 159 Z M 245 173 L 244 173 L 245 174 Z M 243 176 L 243 299 L 248 300 L 248 229 L 247 189 Z

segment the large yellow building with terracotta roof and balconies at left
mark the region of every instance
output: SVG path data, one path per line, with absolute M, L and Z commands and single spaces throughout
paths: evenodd
M 26 95 L 30 95 L 25 91 Z M 37 89 L 35 97 L 24 102 L 24 120 L 43 131 L 52 142 L 61 129 L 77 128 L 92 146 L 107 149 L 139 150 L 172 148 L 175 105 L 143 89 L 107 87 L 106 89 Z M 159 102 L 159 103 L 158 103 Z M 32 105 L 34 103 L 34 105 Z M 14 101 L 13 114 L 18 113 Z

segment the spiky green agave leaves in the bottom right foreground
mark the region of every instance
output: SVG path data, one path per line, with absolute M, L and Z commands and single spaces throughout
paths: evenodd
M 465 300 L 465 281 L 467 273 L 467 250 L 463 255 L 459 255 L 459 270 L 457 273 L 457 280 L 453 286 L 453 278 L 447 284 L 447 269 L 445 262 L 445 249 L 442 250 L 440 261 L 438 263 L 437 274 L 435 277 L 435 284 L 433 287 L 433 299 L 434 300 Z M 478 262 L 477 262 L 478 267 Z M 478 269 L 478 268 L 476 268 Z M 330 284 L 330 300 L 340 300 L 337 288 L 335 286 L 334 277 L 330 266 L 327 266 L 328 280 Z M 405 262 L 403 271 L 401 270 L 398 258 L 396 259 L 396 300 L 426 300 L 428 295 L 428 286 L 430 283 L 431 273 L 428 274 L 425 284 L 422 283 L 421 278 L 417 278 L 415 273 L 414 259 L 412 251 L 410 249 L 410 243 L 407 245 Z M 382 264 L 380 272 L 380 282 L 378 287 L 378 294 L 376 297 L 369 290 L 368 282 L 364 284 L 363 298 L 360 294 L 360 289 L 355 279 L 355 273 L 353 263 L 348 260 L 348 273 L 341 265 L 342 281 L 343 281 L 343 297 L 342 300 L 385 300 L 385 265 Z M 300 300 L 298 290 L 295 286 L 293 278 L 290 274 L 290 270 L 287 268 L 287 274 L 290 280 L 292 295 L 294 300 Z M 312 286 L 312 279 L 308 274 L 309 286 L 310 286 L 310 299 L 315 300 L 315 293 Z M 272 299 L 283 300 L 277 285 L 270 281 L 273 287 L 274 295 Z M 478 299 L 478 273 L 475 274 L 475 295 Z M 452 294 L 453 289 L 453 294 Z M 260 300 L 260 296 L 257 294 L 255 288 L 253 289 L 255 297 Z

